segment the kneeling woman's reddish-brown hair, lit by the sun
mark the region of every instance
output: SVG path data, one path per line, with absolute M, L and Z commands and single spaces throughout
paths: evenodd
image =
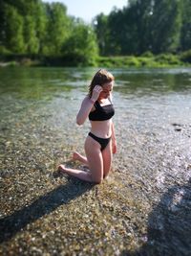
M 95 86 L 97 84 L 102 86 L 104 83 L 111 82 L 111 81 L 114 81 L 114 80 L 115 80 L 115 77 L 110 72 L 108 72 L 105 69 L 99 69 L 96 72 L 93 80 L 91 81 L 91 83 L 89 85 L 88 96 L 90 98 L 92 97 L 93 89 L 95 88 Z

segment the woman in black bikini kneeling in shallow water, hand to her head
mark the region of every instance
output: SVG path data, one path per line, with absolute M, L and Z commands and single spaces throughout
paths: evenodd
M 101 183 L 109 174 L 113 153 L 117 151 L 112 121 L 115 110 L 111 100 L 114 80 L 110 72 L 98 70 L 76 116 L 79 126 L 89 117 L 91 131 L 85 141 L 86 157 L 74 152 L 73 159 L 87 165 L 90 171 L 70 169 L 64 165 L 58 167 L 59 171 L 95 183 Z

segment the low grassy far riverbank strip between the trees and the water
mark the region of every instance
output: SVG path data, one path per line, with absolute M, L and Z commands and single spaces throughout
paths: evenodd
M 191 66 L 191 52 L 181 53 L 180 55 L 161 54 L 155 56 L 150 52 L 140 57 L 96 57 L 91 66 L 101 67 L 185 67 Z M 5 66 L 86 66 L 83 61 L 77 59 L 65 59 L 62 57 L 35 57 L 35 56 L 4 56 L 1 57 L 0 67 Z

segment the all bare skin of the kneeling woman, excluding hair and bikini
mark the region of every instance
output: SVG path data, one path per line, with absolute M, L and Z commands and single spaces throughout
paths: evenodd
M 94 102 L 99 101 L 102 105 L 108 105 L 108 97 L 111 94 L 113 88 L 113 82 L 108 82 L 102 86 L 96 85 L 93 91 L 92 102 L 88 97 L 82 102 L 81 108 L 77 114 L 77 124 L 82 125 L 87 119 L 90 111 L 94 110 Z M 109 102 L 110 104 L 110 102 Z M 116 152 L 116 139 L 115 131 L 112 120 L 106 121 L 92 121 L 91 132 L 100 138 L 112 137 L 107 147 L 101 151 L 100 144 L 90 137 L 86 138 L 84 149 L 86 156 L 81 155 L 78 152 L 74 152 L 73 160 L 77 160 L 86 165 L 90 172 L 82 170 L 71 169 L 60 165 L 58 170 L 68 175 L 73 175 L 85 181 L 101 183 L 111 169 L 111 163 L 113 158 L 113 152 Z

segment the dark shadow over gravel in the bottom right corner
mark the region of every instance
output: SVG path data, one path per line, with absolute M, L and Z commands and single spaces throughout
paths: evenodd
M 147 242 L 136 252 L 123 256 L 191 255 L 191 180 L 175 185 L 162 196 L 149 215 Z

